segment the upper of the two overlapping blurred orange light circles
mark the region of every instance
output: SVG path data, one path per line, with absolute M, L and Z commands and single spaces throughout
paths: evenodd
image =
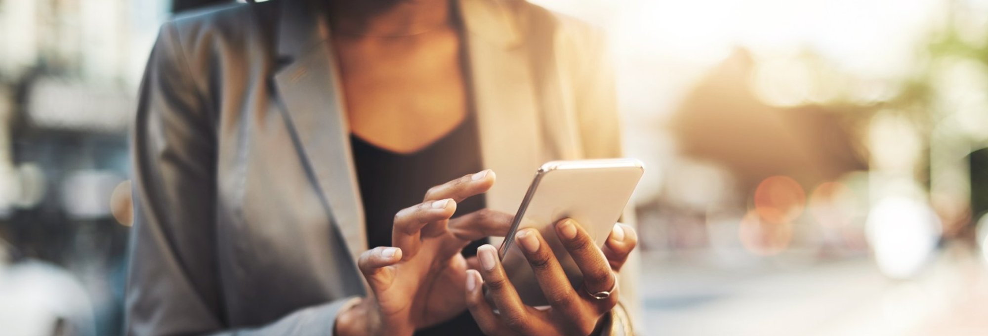
M 755 189 L 755 210 L 762 220 L 781 224 L 795 219 L 806 208 L 806 194 L 788 176 L 772 176 Z

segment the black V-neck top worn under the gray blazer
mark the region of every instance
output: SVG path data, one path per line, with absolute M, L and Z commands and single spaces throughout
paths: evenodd
M 356 134 L 350 135 L 357 166 L 357 180 L 367 218 L 368 245 L 391 246 L 394 214 L 422 203 L 426 191 L 482 169 L 476 120 L 468 114 L 459 126 L 443 138 L 414 153 L 401 154 L 377 147 Z M 482 196 L 456 204 L 458 216 L 485 207 Z M 476 241 L 463 250 L 476 254 L 485 241 Z M 481 335 L 469 312 L 453 320 L 422 330 L 416 335 Z

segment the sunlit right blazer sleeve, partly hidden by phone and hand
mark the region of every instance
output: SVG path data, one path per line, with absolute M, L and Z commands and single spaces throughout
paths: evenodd
M 580 55 L 572 71 L 575 109 L 579 119 L 581 142 L 587 158 L 622 157 L 621 123 L 617 108 L 617 87 L 614 63 L 610 57 L 604 32 L 587 25 L 571 26 L 576 31 L 573 54 Z M 620 221 L 637 229 L 634 205 L 629 203 Z M 640 243 L 639 243 L 640 246 Z M 638 249 L 631 251 L 621 268 L 618 286 L 621 304 L 612 313 L 610 335 L 634 334 L 632 321 L 640 314 L 637 294 L 640 257 Z

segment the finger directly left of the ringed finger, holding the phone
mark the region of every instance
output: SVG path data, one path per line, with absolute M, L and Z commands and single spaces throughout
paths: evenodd
M 559 310 L 563 316 L 580 316 L 578 303 L 582 300 L 573 290 L 573 285 L 566 278 L 562 266 L 559 266 L 552 248 L 541 234 L 534 228 L 526 228 L 518 231 L 515 240 L 529 260 L 538 287 L 542 289 L 542 294 L 545 294 L 552 308 Z

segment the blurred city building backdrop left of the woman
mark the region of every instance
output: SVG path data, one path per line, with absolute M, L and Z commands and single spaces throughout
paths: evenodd
M 127 228 L 109 200 L 170 6 L 0 1 L 0 333 L 119 333 Z

